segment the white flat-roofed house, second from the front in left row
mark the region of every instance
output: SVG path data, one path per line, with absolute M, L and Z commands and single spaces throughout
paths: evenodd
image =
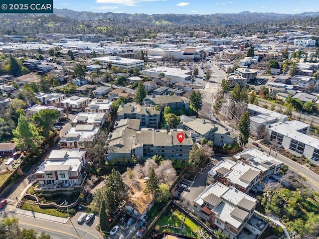
M 60 139 L 61 148 L 81 148 L 92 147 L 100 128 L 93 124 L 77 124 L 71 127 Z

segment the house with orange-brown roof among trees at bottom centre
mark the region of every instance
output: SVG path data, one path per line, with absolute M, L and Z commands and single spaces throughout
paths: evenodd
M 147 179 L 138 179 L 138 186 L 128 185 L 129 201 L 125 204 L 125 209 L 129 214 L 133 214 L 135 218 L 144 219 L 147 212 L 153 207 L 153 195 L 145 194 Z

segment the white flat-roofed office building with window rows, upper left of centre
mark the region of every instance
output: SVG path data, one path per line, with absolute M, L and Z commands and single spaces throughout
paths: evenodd
M 93 58 L 92 61 L 99 61 L 102 65 L 108 65 L 121 67 L 123 69 L 133 69 L 134 67 L 143 68 L 144 60 L 122 58 L 120 56 L 104 56 Z

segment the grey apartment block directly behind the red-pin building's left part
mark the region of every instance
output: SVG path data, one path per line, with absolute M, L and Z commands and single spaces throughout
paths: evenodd
M 157 128 L 160 124 L 160 111 L 154 107 L 140 106 L 136 104 L 124 104 L 117 111 L 118 120 L 140 119 L 141 125 Z

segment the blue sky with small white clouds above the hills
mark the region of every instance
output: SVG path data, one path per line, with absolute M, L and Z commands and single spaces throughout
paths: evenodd
M 319 11 L 319 0 L 53 0 L 54 8 L 125 13 L 213 14 L 241 11 L 296 14 Z

